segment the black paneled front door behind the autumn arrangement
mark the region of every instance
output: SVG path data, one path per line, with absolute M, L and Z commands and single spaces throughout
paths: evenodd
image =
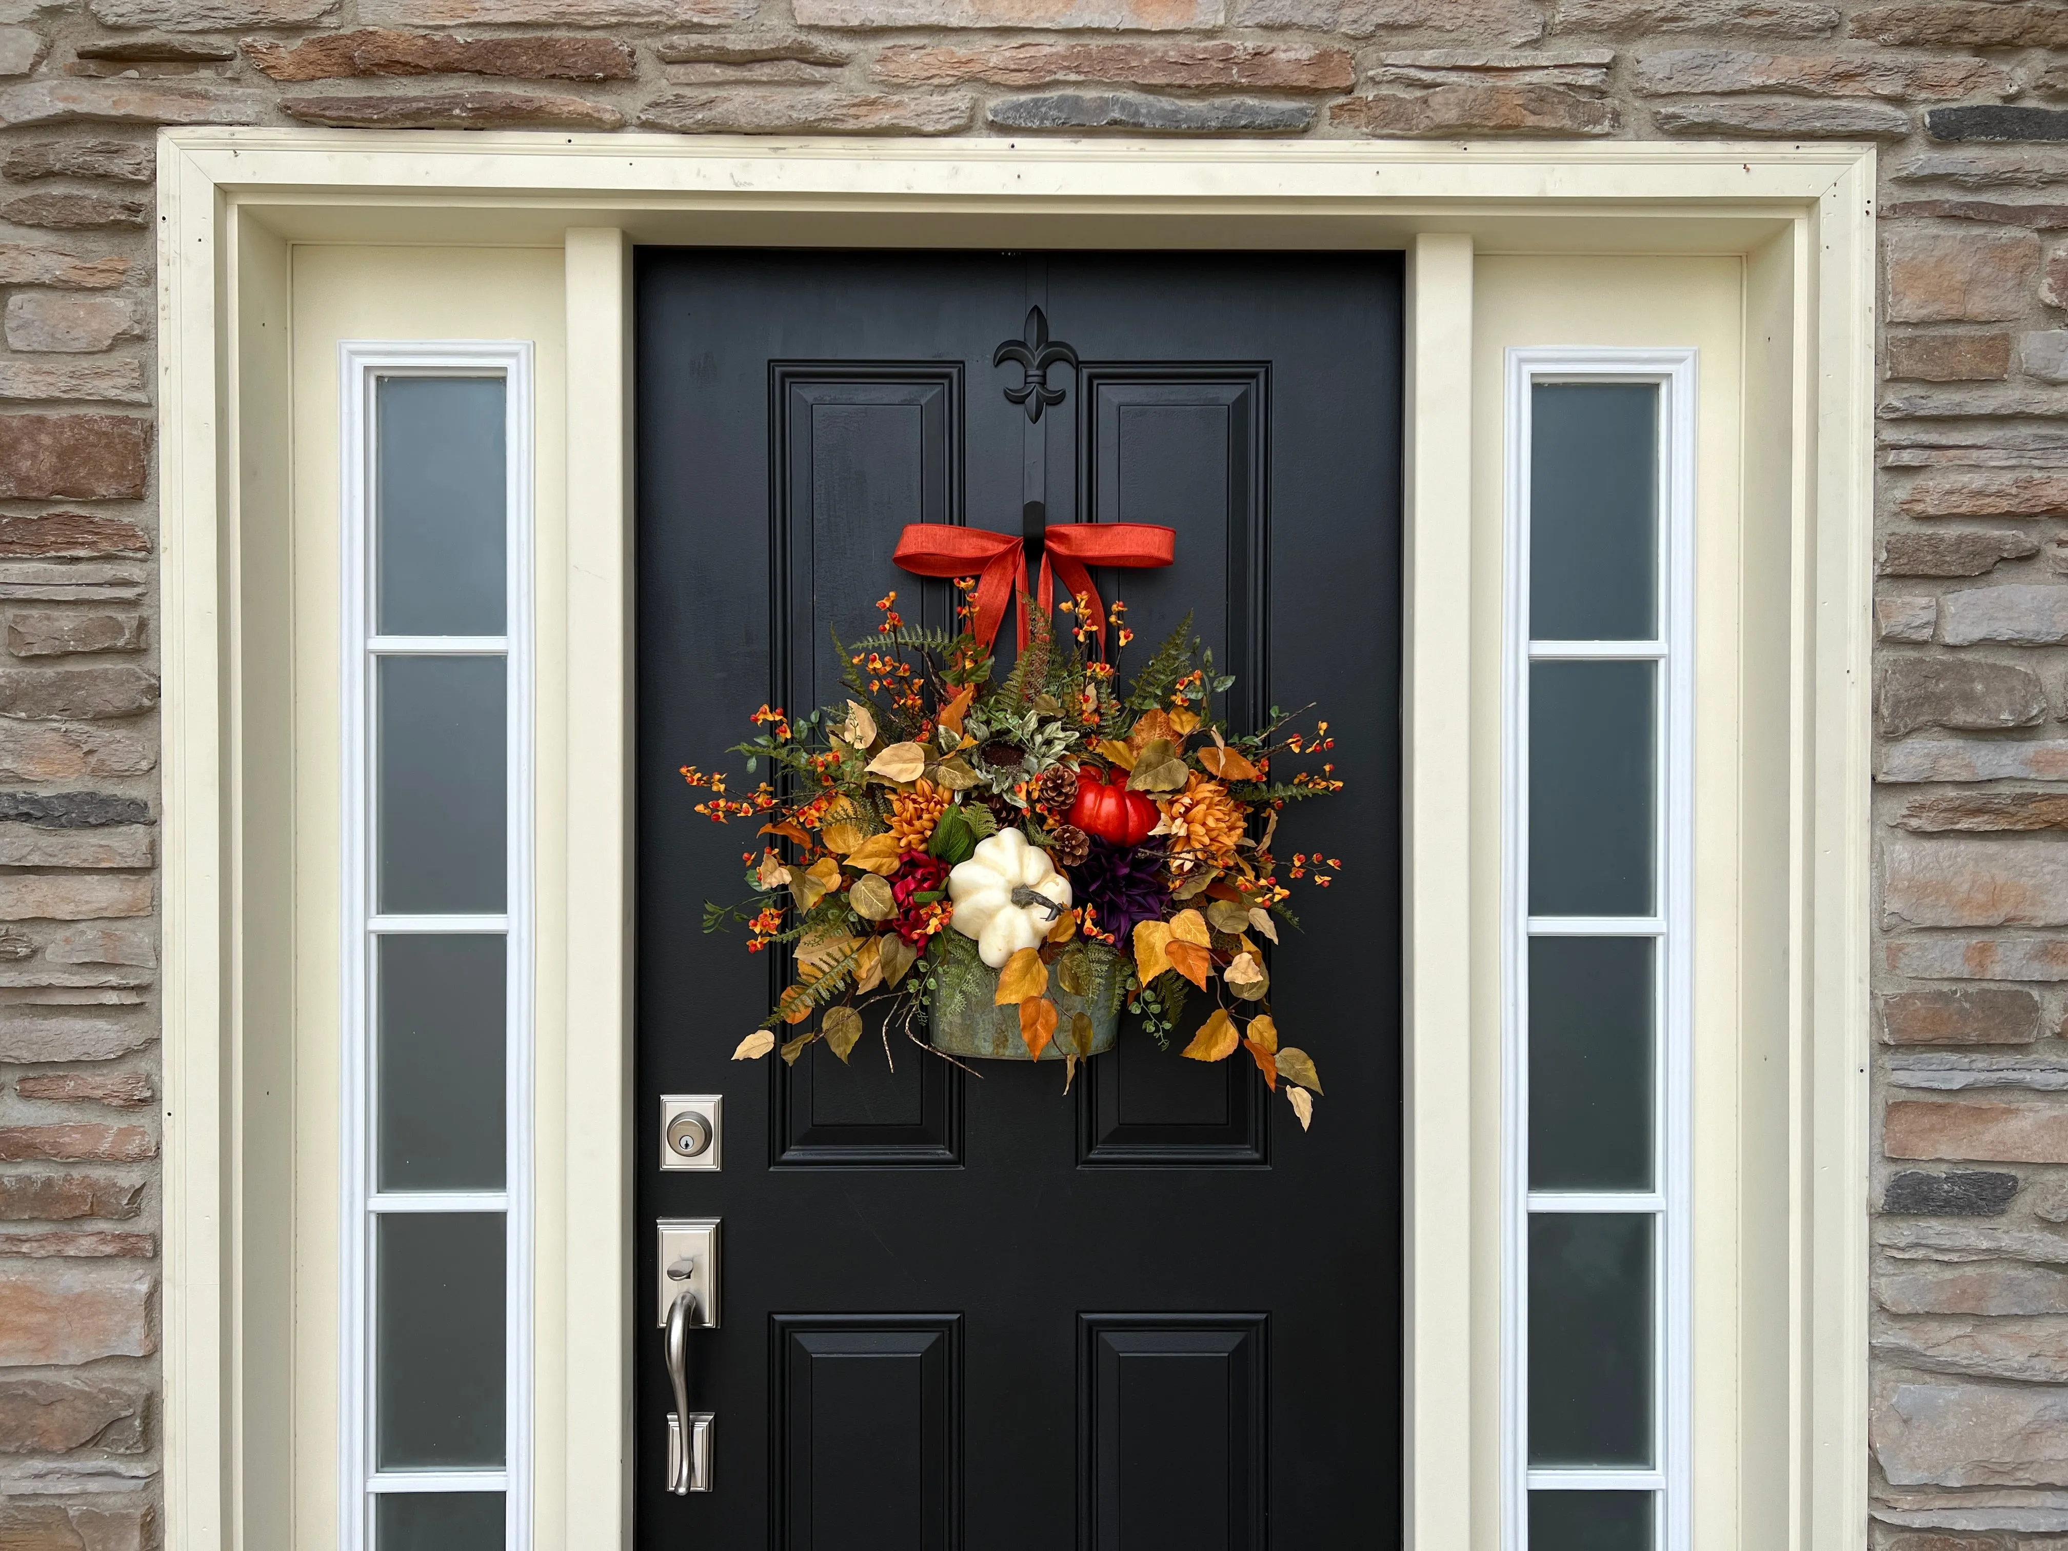
M 639 1545 L 1332 1551 L 1400 1516 L 1400 263 L 1396 254 L 643 250 L 639 263 Z M 1030 308 L 1077 366 L 1032 422 L 993 366 Z M 1123 1026 L 980 1077 L 900 1042 L 734 1063 L 782 984 L 705 937 L 751 823 L 693 813 L 763 701 L 840 703 L 829 627 L 912 521 L 1177 529 L 1100 573 L 1144 643 L 1183 610 L 1233 713 L 1317 703 L 1348 790 L 1278 850 L 1340 856 L 1272 1011 L 1311 1133 L 1247 1059 Z M 1009 639 L 1009 637 L 1007 637 Z M 1125 664 L 1123 664 L 1125 672 Z M 736 761 L 734 769 L 736 769 Z M 734 790 L 749 784 L 736 776 Z M 724 1094 L 718 1173 L 662 1173 L 660 1096 Z M 722 1218 L 693 1334 L 713 1491 L 666 1493 L 658 1218 Z

